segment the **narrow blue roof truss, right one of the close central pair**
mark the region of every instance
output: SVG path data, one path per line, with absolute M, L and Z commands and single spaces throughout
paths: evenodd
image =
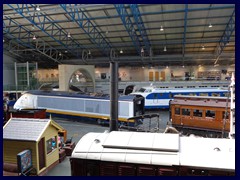
M 151 45 L 150 45 L 150 41 L 148 39 L 147 31 L 146 31 L 146 28 L 144 26 L 144 23 L 143 23 L 138 5 L 137 4 L 130 4 L 130 9 L 132 11 L 133 18 L 135 20 L 135 23 L 137 24 L 138 30 L 139 30 L 140 35 L 142 37 L 144 46 L 146 48 L 146 53 L 150 55 L 151 54 L 150 53 Z

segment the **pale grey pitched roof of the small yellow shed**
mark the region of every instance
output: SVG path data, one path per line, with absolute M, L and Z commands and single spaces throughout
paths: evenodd
M 50 124 L 60 129 L 61 126 L 51 122 L 51 119 L 11 118 L 3 127 L 3 139 L 38 141 Z

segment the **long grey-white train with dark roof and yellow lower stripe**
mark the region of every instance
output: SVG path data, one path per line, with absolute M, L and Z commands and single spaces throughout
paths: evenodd
M 14 109 L 46 109 L 51 116 L 97 120 L 99 124 L 110 119 L 110 98 L 108 95 L 86 95 L 77 92 L 39 91 L 24 93 L 15 103 Z M 139 95 L 119 96 L 118 122 L 135 125 L 133 116 L 144 114 L 144 98 Z

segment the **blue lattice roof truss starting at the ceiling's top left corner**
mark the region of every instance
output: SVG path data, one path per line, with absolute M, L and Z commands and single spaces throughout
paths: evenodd
M 16 8 L 11 4 L 7 4 L 15 12 L 21 15 L 23 18 L 27 19 L 31 24 L 38 27 L 42 32 L 51 37 L 54 41 L 64 46 L 68 52 L 73 54 L 75 57 L 80 58 L 79 51 L 73 51 L 72 49 L 86 49 L 79 42 L 74 40 L 72 37 L 67 37 L 67 32 L 65 32 L 61 27 L 59 27 L 53 20 L 47 17 L 41 12 L 32 13 L 32 9 L 35 9 L 33 4 L 15 4 Z

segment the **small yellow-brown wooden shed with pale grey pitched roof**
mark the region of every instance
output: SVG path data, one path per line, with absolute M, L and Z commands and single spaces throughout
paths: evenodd
M 59 162 L 58 131 L 63 128 L 51 119 L 11 118 L 3 127 L 3 161 L 16 163 L 17 154 L 32 151 L 37 175 L 43 175 Z

